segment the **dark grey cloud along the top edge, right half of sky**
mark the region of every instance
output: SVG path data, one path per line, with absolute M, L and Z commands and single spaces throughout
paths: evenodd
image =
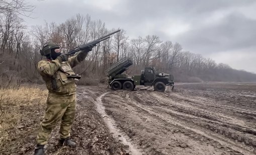
M 178 17 L 182 19 L 197 18 L 201 14 L 211 13 L 213 11 L 227 9 L 231 7 L 241 7 L 255 3 L 255 1 L 206 1 L 206 0 L 143 0 L 126 2 L 126 8 L 130 10 L 131 15 L 137 16 L 138 20 L 161 18 L 161 17 Z M 142 18 L 140 18 L 142 17 Z

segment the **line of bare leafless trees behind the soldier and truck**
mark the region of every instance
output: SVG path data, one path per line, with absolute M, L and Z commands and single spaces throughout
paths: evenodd
M 101 20 L 90 15 L 77 14 L 61 24 L 45 22 L 27 27 L 23 16 L 34 6 L 25 1 L 0 0 L 0 76 L 2 83 L 16 81 L 42 82 L 36 69 L 42 56 L 39 50 L 48 41 L 57 43 L 63 53 L 84 43 L 98 39 L 117 29 L 108 30 Z M 124 57 L 133 61 L 127 74 L 140 74 L 145 66 L 154 66 L 159 72 L 172 73 L 175 81 L 235 81 L 255 82 L 256 74 L 235 70 L 227 64 L 217 64 L 200 54 L 183 51 L 182 45 L 161 41 L 156 35 L 130 39 L 123 29 L 111 39 L 98 44 L 75 72 L 83 70 L 81 84 L 105 82 L 105 70 Z

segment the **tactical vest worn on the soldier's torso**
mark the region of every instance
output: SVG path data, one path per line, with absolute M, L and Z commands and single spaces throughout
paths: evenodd
M 43 77 L 49 93 L 66 95 L 74 94 L 76 91 L 75 80 L 73 78 L 67 78 L 68 74 L 74 74 L 74 72 L 69 63 L 65 61 L 61 63 L 60 68 L 53 77 Z M 53 80 L 55 80 L 56 88 L 53 86 Z

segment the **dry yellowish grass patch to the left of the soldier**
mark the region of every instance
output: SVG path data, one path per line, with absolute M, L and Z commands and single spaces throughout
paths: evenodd
M 35 138 L 47 93 L 28 86 L 0 88 L 0 154 L 14 153 L 19 143 Z

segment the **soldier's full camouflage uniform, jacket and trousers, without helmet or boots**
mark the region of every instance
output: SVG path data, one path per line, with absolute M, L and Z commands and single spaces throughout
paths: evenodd
M 46 57 L 38 62 L 38 70 L 49 92 L 44 119 L 36 138 L 37 144 L 47 143 L 52 129 L 59 120 L 61 120 L 60 138 L 70 136 L 76 108 L 76 83 L 73 78 L 67 78 L 67 74 L 74 74 L 71 68 L 79 64 L 86 56 L 87 52 L 79 52 L 76 56 L 68 58 L 68 61 L 61 63 L 58 59 L 48 60 Z M 52 85 L 53 79 L 56 80 L 56 89 Z

